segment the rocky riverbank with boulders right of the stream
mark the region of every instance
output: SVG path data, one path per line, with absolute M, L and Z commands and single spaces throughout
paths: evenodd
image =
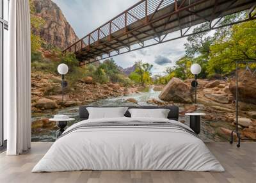
M 202 106 L 207 115 L 203 116 L 205 121 L 225 122 L 211 123 L 220 136 L 228 138 L 231 129 L 236 125 L 236 84 L 235 79 L 208 81 L 198 79 L 197 101 L 200 105 L 192 105 L 194 90 L 190 86 L 193 79 L 181 81 L 173 78 L 162 90 L 159 99 L 150 99 L 148 104 L 157 104 L 159 106 L 180 105 L 182 103 L 184 110 L 180 115 L 196 111 L 198 106 Z M 256 139 L 256 81 L 250 74 L 243 74 L 239 77 L 239 130 L 244 139 Z M 250 99 L 250 100 L 248 100 Z M 184 104 L 187 103 L 187 104 Z M 190 104 L 190 105 L 189 105 Z M 222 124 L 222 125 L 221 125 Z

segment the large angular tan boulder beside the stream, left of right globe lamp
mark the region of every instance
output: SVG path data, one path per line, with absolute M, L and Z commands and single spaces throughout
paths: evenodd
M 176 77 L 173 77 L 166 84 L 159 95 L 159 99 L 180 103 L 192 103 L 193 101 L 190 86 Z

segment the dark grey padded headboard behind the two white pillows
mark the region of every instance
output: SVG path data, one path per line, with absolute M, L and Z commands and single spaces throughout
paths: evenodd
M 179 107 L 178 106 L 80 106 L 79 118 L 80 120 L 87 120 L 89 113 L 86 107 L 129 107 L 129 109 L 170 109 L 167 118 L 169 120 L 179 120 Z M 124 114 L 126 117 L 131 117 L 131 114 L 127 110 Z

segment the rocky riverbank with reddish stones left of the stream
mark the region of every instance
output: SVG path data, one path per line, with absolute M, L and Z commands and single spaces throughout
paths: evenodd
M 118 83 L 99 84 L 92 77 L 84 77 L 75 86 L 65 88 L 64 100 L 61 95 L 61 77 L 45 72 L 31 73 L 32 113 L 89 104 L 96 100 L 138 93 L 138 88 L 126 88 Z

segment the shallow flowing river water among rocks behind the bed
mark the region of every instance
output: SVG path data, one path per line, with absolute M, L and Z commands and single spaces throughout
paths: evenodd
M 147 104 L 147 101 L 152 98 L 158 99 L 158 95 L 160 92 L 156 92 L 152 90 L 152 88 L 149 89 L 148 92 L 141 92 L 141 93 L 134 93 L 128 96 L 120 96 L 115 98 L 109 98 L 109 99 L 101 99 L 97 100 L 96 102 L 92 102 L 88 105 L 92 106 L 136 106 L 137 104 L 127 102 L 126 100 L 129 98 L 136 99 L 138 101 L 138 105 L 149 105 Z M 179 105 L 180 110 L 184 109 L 183 105 Z M 73 123 L 79 122 L 79 116 L 78 116 L 79 106 L 75 107 L 67 107 L 65 109 L 56 109 L 47 111 L 45 113 L 35 113 L 32 115 L 32 122 L 36 120 L 40 120 L 43 118 L 52 118 L 53 115 L 56 114 L 63 114 L 68 115 L 71 118 L 75 118 L 76 120 L 73 122 L 68 122 L 68 126 L 72 125 Z M 199 106 L 197 112 L 205 112 L 204 106 Z M 180 120 L 185 120 L 186 125 L 189 125 L 189 118 L 187 116 L 180 116 Z M 212 127 L 211 123 L 216 122 L 206 122 L 202 120 L 201 122 L 201 132 L 200 132 L 200 138 L 204 141 L 223 141 L 220 136 L 216 136 L 215 130 Z M 56 139 L 56 130 L 58 128 L 37 128 L 33 129 L 31 139 L 32 141 L 55 141 Z

